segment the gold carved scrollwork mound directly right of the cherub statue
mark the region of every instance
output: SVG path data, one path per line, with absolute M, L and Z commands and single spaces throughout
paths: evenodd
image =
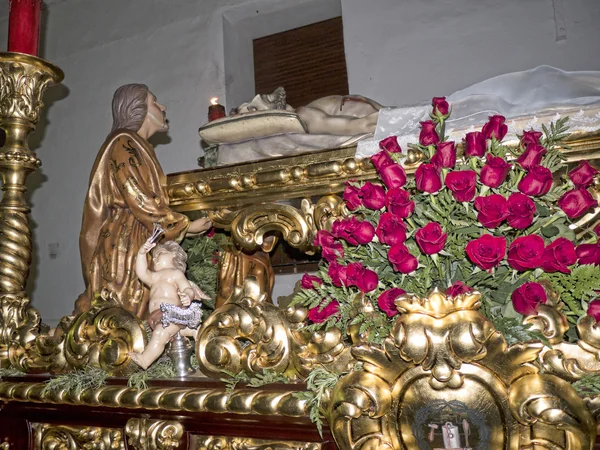
M 208 376 L 242 370 L 282 373 L 290 365 L 289 324 L 254 277 L 234 288 L 227 302 L 204 322 L 196 342 L 200 370 Z

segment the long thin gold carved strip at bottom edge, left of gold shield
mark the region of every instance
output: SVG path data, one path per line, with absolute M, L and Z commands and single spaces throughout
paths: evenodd
M 193 436 L 190 450 L 320 450 L 315 442 L 273 441 L 264 439 Z

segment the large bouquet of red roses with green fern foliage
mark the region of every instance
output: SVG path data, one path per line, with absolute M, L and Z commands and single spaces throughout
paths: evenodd
M 348 183 L 351 213 L 318 232 L 321 269 L 304 276 L 294 300 L 309 308 L 308 326 L 358 326 L 381 342 L 395 300 L 435 287 L 449 296 L 480 291 L 484 314 L 501 321 L 535 314 L 551 286 L 572 324 L 586 311 L 600 319 L 600 225 L 586 222 L 598 206 L 590 192 L 598 170 L 583 161 L 565 173 L 568 118 L 524 131 L 515 148 L 502 144 L 505 118 L 492 116 L 459 152 L 445 137 L 446 99 L 432 106 L 411 146 L 421 155 L 414 177 L 396 137 L 384 139 L 371 157 L 379 180 Z

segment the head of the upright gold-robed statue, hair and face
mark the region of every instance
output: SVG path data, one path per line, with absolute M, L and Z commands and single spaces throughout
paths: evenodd
M 113 127 L 138 132 L 142 126 L 151 133 L 167 131 L 166 108 L 156 101 L 156 96 L 145 84 L 126 84 L 115 91 L 112 103 Z

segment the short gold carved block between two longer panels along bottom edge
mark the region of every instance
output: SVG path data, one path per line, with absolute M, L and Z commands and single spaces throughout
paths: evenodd
M 173 450 L 183 438 L 183 425 L 174 420 L 129 419 L 127 442 L 135 450 Z

